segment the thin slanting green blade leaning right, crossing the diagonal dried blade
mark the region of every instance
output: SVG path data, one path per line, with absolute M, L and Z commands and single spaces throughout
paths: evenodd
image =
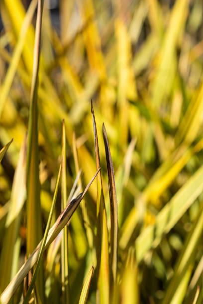
M 42 256 L 43 256 L 43 253 L 44 253 L 45 244 L 46 244 L 47 236 L 48 236 L 48 233 L 49 233 L 49 228 L 50 228 L 50 225 L 51 225 L 51 219 L 52 219 L 52 216 L 53 216 L 54 207 L 55 207 L 55 203 L 56 203 L 62 166 L 63 166 L 63 159 L 62 159 L 62 164 L 60 165 L 60 168 L 59 168 L 59 173 L 58 173 L 58 177 L 57 177 L 57 181 L 56 181 L 56 187 L 55 187 L 55 191 L 54 191 L 52 205 L 51 205 L 51 209 L 50 209 L 50 212 L 49 212 L 49 218 L 48 218 L 48 221 L 47 221 L 46 229 L 45 229 L 44 236 L 43 236 L 43 239 L 41 241 L 41 245 L 40 245 L 40 249 L 39 249 L 39 257 L 37 259 L 36 268 L 34 270 L 32 280 L 30 282 L 26 297 L 24 299 L 24 304 L 27 304 L 28 301 L 29 301 L 29 298 L 30 298 L 32 289 L 34 287 L 35 280 L 36 280 L 36 277 L 37 277 L 37 274 L 39 272 L 39 268 L 40 268 L 40 265 L 41 265 L 41 262 L 42 262 Z

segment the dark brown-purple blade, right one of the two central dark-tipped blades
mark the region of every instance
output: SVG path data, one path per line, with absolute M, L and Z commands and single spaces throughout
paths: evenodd
M 113 274 L 113 282 L 117 280 L 117 251 L 118 251 L 118 206 L 115 189 L 115 177 L 113 170 L 113 162 L 111 158 L 110 148 L 105 126 L 103 124 L 103 140 L 105 144 L 106 163 L 108 170 L 109 197 L 110 197 L 110 218 L 111 218 L 111 234 L 110 234 L 110 265 Z

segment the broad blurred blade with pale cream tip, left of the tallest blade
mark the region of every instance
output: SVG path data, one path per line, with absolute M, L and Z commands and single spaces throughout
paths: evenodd
M 15 252 L 15 245 L 19 237 L 21 222 L 21 212 L 25 201 L 26 182 L 25 182 L 25 159 L 26 159 L 26 138 L 22 144 L 19 161 L 15 170 L 10 197 L 9 212 L 5 222 L 5 234 L 0 255 L 0 290 L 9 284 L 12 274 L 17 272 L 14 267 L 14 259 L 18 259 L 19 252 Z M 17 269 L 16 269 L 17 268 Z

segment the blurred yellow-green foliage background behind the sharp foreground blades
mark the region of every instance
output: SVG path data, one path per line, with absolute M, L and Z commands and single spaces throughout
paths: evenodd
M 15 263 L 5 279 L 2 248 L 8 245 L 7 214 L 30 104 L 37 1 L 28 2 L 0 1 L 0 148 L 13 138 L 0 164 L 1 291 L 26 251 L 23 199 Z M 67 194 L 80 168 L 82 188 L 96 172 L 92 99 L 109 231 L 103 122 L 114 165 L 119 303 L 193 303 L 195 297 L 201 303 L 203 298 L 202 37 L 202 0 L 44 3 L 38 88 L 42 226 L 60 164 L 62 119 Z M 96 197 L 94 182 L 68 229 L 70 303 L 78 302 L 87 272 L 97 265 Z M 59 194 L 55 219 L 60 201 Z M 59 246 L 45 255 L 46 299 L 58 303 Z M 88 303 L 96 303 L 96 290 L 97 268 Z

